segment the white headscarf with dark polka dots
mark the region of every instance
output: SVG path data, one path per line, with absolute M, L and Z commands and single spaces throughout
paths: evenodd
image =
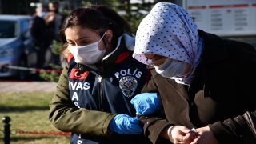
M 174 77 L 178 83 L 189 84 L 202 54 L 198 26 L 182 7 L 158 2 L 136 33 L 133 57 L 146 64 L 144 54 L 160 54 L 190 63 L 192 66 L 186 75 Z

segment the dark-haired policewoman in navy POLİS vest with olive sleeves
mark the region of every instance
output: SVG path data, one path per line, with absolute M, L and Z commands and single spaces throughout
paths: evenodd
M 128 22 L 109 6 L 83 6 L 67 16 L 59 38 L 67 63 L 50 102 L 50 122 L 72 132 L 72 144 L 150 144 L 130 103 L 149 73 L 132 58 Z

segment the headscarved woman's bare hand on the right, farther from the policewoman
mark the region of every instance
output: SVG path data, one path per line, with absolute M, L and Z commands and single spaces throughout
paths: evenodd
M 218 141 L 210 131 L 209 126 L 198 128 L 194 130 L 194 132 L 197 132 L 198 135 L 194 137 L 193 135 L 186 134 L 184 140 L 194 137 L 194 140 L 190 142 L 191 144 L 218 144 Z

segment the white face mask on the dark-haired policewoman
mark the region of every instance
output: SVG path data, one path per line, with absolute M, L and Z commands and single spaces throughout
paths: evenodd
M 102 38 L 105 34 L 106 32 Z M 70 52 L 74 56 L 74 62 L 91 65 L 102 60 L 106 52 L 106 49 L 98 50 L 98 43 L 101 42 L 102 38 L 98 42 L 86 46 L 69 46 Z

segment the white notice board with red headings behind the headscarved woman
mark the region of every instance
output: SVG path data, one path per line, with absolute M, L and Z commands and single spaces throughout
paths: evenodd
M 198 28 L 219 36 L 256 35 L 256 0 L 186 0 Z

